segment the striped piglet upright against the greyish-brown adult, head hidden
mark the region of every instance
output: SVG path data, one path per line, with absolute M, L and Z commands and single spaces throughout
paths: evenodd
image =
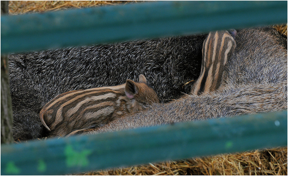
M 228 31 L 209 33 L 203 43 L 201 73 L 191 93 L 200 95 L 220 87 L 227 60 L 235 48 L 236 42 Z

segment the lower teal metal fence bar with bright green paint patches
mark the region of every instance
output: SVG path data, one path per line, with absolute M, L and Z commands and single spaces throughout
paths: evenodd
M 287 111 L 1 145 L 1 174 L 68 174 L 287 145 Z

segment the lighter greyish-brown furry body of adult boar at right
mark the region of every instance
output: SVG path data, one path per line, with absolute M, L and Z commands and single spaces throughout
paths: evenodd
M 287 110 L 287 37 L 266 27 L 243 29 L 235 41 L 219 90 L 155 104 L 86 134 Z

